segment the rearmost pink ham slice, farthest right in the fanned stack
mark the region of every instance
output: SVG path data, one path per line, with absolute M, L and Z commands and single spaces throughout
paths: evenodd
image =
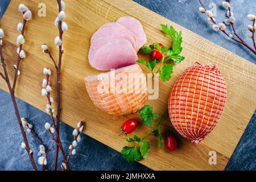
M 141 23 L 137 19 L 131 16 L 123 16 L 119 18 L 116 22 L 122 24 L 122 26 L 125 26 L 127 29 L 129 29 L 137 36 L 138 48 L 141 48 L 144 44 L 146 44 L 146 34 L 143 30 Z

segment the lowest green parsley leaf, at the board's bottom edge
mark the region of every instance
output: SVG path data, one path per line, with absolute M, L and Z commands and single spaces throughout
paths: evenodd
M 137 150 L 137 147 L 123 147 L 121 154 L 123 158 L 127 160 L 127 162 L 134 162 L 135 160 L 139 161 L 143 157 L 141 155 L 141 152 Z

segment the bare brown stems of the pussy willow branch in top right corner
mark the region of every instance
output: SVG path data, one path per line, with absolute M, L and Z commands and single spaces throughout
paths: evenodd
M 228 2 L 230 3 L 230 0 L 229 0 Z M 199 3 L 200 3 L 200 5 L 201 5 L 205 10 L 207 10 L 207 9 L 205 8 L 204 4 L 201 2 L 201 0 L 199 0 Z M 230 9 L 230 7 L 229 7 L 229 15 L 231 15 L 231 9 Z M 217 22 L 216 22 L 213 18 L 210 18 L 210 19 L 212 20 L 212 22 L 213 22 L 214 24 L 217 24 Z M 236 41 L 237 43 L 240 43 L 240 44 L 242 44 L 243 46 L 247 47 L 251 52 L 253 52 L 253 53 L 256 55 L 256 50 L 254 50 L 252 47 L 250 47 L 250 46 L 241 38 L 241 36 L 237 34 L 236 29 L 234 28 L 234 23 L 230 23 L 230 24 L 231 24 L 231 26 L 232 26 L 232 30 L 233 30 L 234 35 L 236 35 L 237 38 L 238 38 L 238 39 L 236 39 L 236 38 L 232 38 L 232 39 L 233 39 L 234 41 Z M 229 36 L 229 34 L 228 34 L 225 30 L 221 30 L 221 31 L 222 31 L 226 36 Z

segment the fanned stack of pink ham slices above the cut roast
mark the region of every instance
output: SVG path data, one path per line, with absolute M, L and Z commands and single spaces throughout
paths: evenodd
M 147 42 L 141 23 L 130 16 L 106 23 L 90 40 L 89 63 L 100 71 L 136 64 L 137 52 Z

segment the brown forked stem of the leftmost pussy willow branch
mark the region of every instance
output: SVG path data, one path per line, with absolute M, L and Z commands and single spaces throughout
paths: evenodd
M 23 31 L 22 31 L 23 34 L 24 34 L 24 28 L 25 28 L 25 24 L 23 26 Z M 0 39 L 0 41 L 2 41 L 2 39 Z M 20 46 L 20 47 L 22 48 L 22 46 Z M 11 95 L 11 100 L 13 101 L 13 106 L 14 106 L 16 117 L 18 119 L 19 128 L 20 128 L 20 131 L 22 133 L 22 137 L 23 137 L 24 143 L 26 144 L 26 148 L 25 149 L 26 149 L 26 151 L 28 153 L 28 156 L 30 158 L 30 162 L 32 164 L 33 169 L 34 170 L 38 170 L 38 168 L 36 167 L 36 164 L 35 164 L 34 157 L 33 157 L 33 152 L 30 152 L 31 151 L 30 150 L 30 145 L 28 144 L 27 135 L 26 135 L 26 133 L 25 133 L 25 131 L 23 129 L 22 121 L 21 121 L 20 114 L 19 114 L 18 105 L 17 105 L 16 100 L 15 100 L 15 85 L 16 85 L 17 79 L 14 79 L 14 83 L 15 84 L 12 87 L 11 83 L 10 83 L 10 80 L 9 80 L 9 75 L 8 75 L 8 72 L 7 72 L 7 69 L 6 69 L 5 57 L 3 56 L 3 46 L 2 45 L 0 46 L 0 55 L 1 55 L 1 63 L 2 63 L 2 67 L 3 67 L 3 71 L 4 71 L 4 74 L 5 74 L 5 75 L 3 75 L 3 73 L 1 73 L 1 76 L 6 81 L 6 84 L 8 86 L 8 89 L 9 89 L 9 92 L 10 92 L 10 95 Z M 20 60 L 21 60 L 20 56 L 18 56 L 17 63 L 20 63 Z M 17 75 L 17 77 L 18 77 L 18 64 L 17 64 L 17 68 L 15 69 L 15 75 Z

